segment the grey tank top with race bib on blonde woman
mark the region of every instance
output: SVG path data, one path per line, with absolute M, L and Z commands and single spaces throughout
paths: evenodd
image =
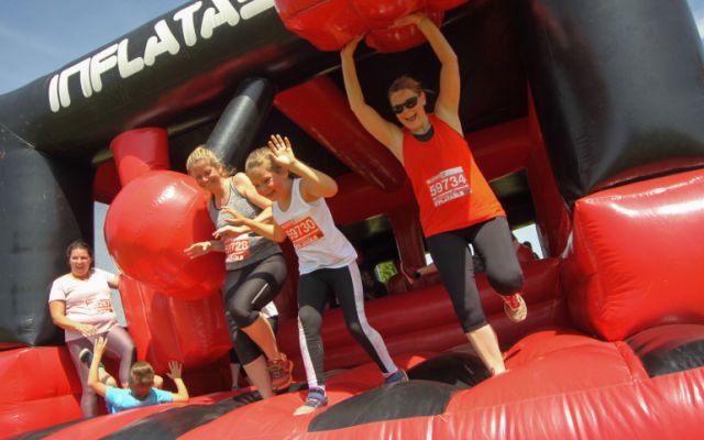
M 227 206 L 250 219 L 258 216 L 262 209 L 248 200 L 246 197 L 240 195 L 231 177 L 228 178 L 228 180 L 230 182 L 230 196 L 228 197 Z M 210 204 L 208 204 L 208 212 L 216 229 L 228 226 L 229 223 L 227 223 L 224 219 L 232 218 L 228 213 L 221 213 L 220 210 L 216 208 L 215 197 L 211 198 Z M 226 250 L 224 262 L 228 271 L 237 271 L 282 252 L 277 243 L 266 240 L 254 232 L 235 238 L 228 238 L 222 242 Z

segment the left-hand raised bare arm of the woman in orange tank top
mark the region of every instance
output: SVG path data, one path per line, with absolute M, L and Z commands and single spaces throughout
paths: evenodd
M 360 86 L 360 79 L 356 76 L 356 66 L 354 65 L 354 51 L 360 40 L 362 40 L 362 37 L 358 36 L 340 51 L 342 78 L 344 79 L 344 88 L 348 94 L 350 108 L 360 123 L 362 123 L 362 127 L 364 127 L 374 139 L 389 148 L 396 158 L 403 162 L 403 134 L 400 129 L 382 118 L 376 110 L 364 101 L 364 94 L 362 92 L 362 86 Z

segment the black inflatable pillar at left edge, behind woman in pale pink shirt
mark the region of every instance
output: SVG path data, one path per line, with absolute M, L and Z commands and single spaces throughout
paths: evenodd
M 0 132 L 0 348 L 63 342 L 48 288 L 68 272 L 68 243 L 92 240 L 91 177 Z

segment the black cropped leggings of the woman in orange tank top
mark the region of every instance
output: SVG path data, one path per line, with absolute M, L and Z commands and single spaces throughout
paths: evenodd
M 494 290 L 501 295 L 512 295 L 524 284 L 524 274 L 510 240 L 510 229 L 504 217 L 431 235 L 427 241 L 432 261 L 450 294 L 464 332 L 487 323 L 474 282 L 469 243 L 484 258 L 486 276 Z

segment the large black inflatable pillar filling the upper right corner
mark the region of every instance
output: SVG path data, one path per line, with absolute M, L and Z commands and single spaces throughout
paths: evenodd
M 560 190 L 701 166 L 702 43 L 684 0 L 515 1 Z

